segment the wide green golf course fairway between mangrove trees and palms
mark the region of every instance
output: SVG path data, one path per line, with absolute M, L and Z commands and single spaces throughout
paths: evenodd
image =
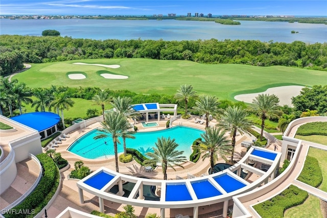
M 76 65 L 75 62 L 93 64 L 119 64 L 119 68 Z M 71 80 L 68 74 L 83 72 L 83 80 Z M 125 75 L 128 79 L 112 80 L 99 76 L 100 72 Z M 214 94 L 220 99 L 233 100 L 241 93 L 264 91 L 283 85 L 327 85 L 325 71 L 294 67 L 259 67 L 241 64 L 200 64 L 192 61 L 151 59 L 88 59 L 56 63 L 32 64 L 14 76 L 29 87 L 96 86 L 101 89 L 128 89 L 138 93 L 174 94 L 181 84 L 192 84 L 198 93 Z

